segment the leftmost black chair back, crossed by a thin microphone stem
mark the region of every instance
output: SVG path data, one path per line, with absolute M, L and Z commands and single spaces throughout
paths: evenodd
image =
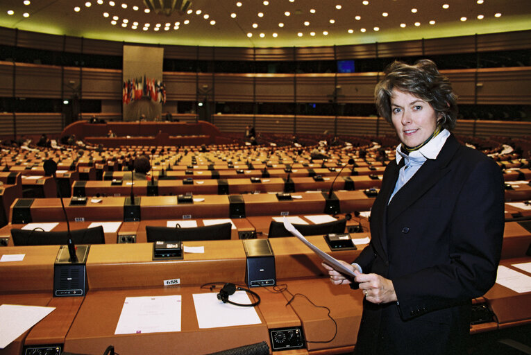
M 71 230 L 74 244 L 105 244 L 105 234 L 101 225 L 81 230 Z M 42 230 L 11 230 L 15 245 L 62 245 L 68 241 L 68 232 L 44 232 Z

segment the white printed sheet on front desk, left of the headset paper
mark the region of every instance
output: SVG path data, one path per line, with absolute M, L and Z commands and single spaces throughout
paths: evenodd
M 115 334 L 180 331 L 181 296 L 126 297 Z

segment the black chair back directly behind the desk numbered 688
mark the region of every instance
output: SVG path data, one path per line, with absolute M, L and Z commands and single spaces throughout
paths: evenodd
M 148 243 L 155 241 L 213 241 L 230 239 L 232 223 L 205 225 L 205 227 L 155 227 L 146 225 Z

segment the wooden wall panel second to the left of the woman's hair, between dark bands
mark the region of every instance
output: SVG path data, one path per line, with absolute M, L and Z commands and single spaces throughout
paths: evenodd
M 335 90 L 335 74 L 297 74 L 298 103 L 328 103 Z

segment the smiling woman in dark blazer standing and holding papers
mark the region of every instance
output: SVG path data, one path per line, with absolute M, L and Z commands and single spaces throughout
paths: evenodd
M 394 62 L 376 106 L 401 144 L 371 209 L 371 242 L 355 278 L 323 264 L 332 284 L 364 293 L 355 354 L 464 354 L 471 299 L 496 280 L 503 175 L 450 133 L 456 96 L 435 63 Z

